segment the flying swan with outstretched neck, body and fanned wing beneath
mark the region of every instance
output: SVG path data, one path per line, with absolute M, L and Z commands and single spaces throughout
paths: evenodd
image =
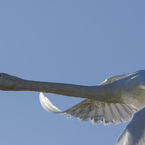
M 111 77 L 98 86 L 29 81 L 1 73 L 0 90 L 38 91 L 86 98 L 61 112 L 40 94 L 41 104 L 48 112 L 66 113 L 92 123 L 116 124 L 128 121 L 145 106 L 145 71 Z

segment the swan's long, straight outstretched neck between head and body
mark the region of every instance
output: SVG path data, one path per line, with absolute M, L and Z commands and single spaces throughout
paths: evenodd
M 21 80 L 21 83 L 16 85 L 15 90 L 46 92 L 81 98 L 93 98 L 96 96 L 96 89 L 94 87 L 29 80 Z

